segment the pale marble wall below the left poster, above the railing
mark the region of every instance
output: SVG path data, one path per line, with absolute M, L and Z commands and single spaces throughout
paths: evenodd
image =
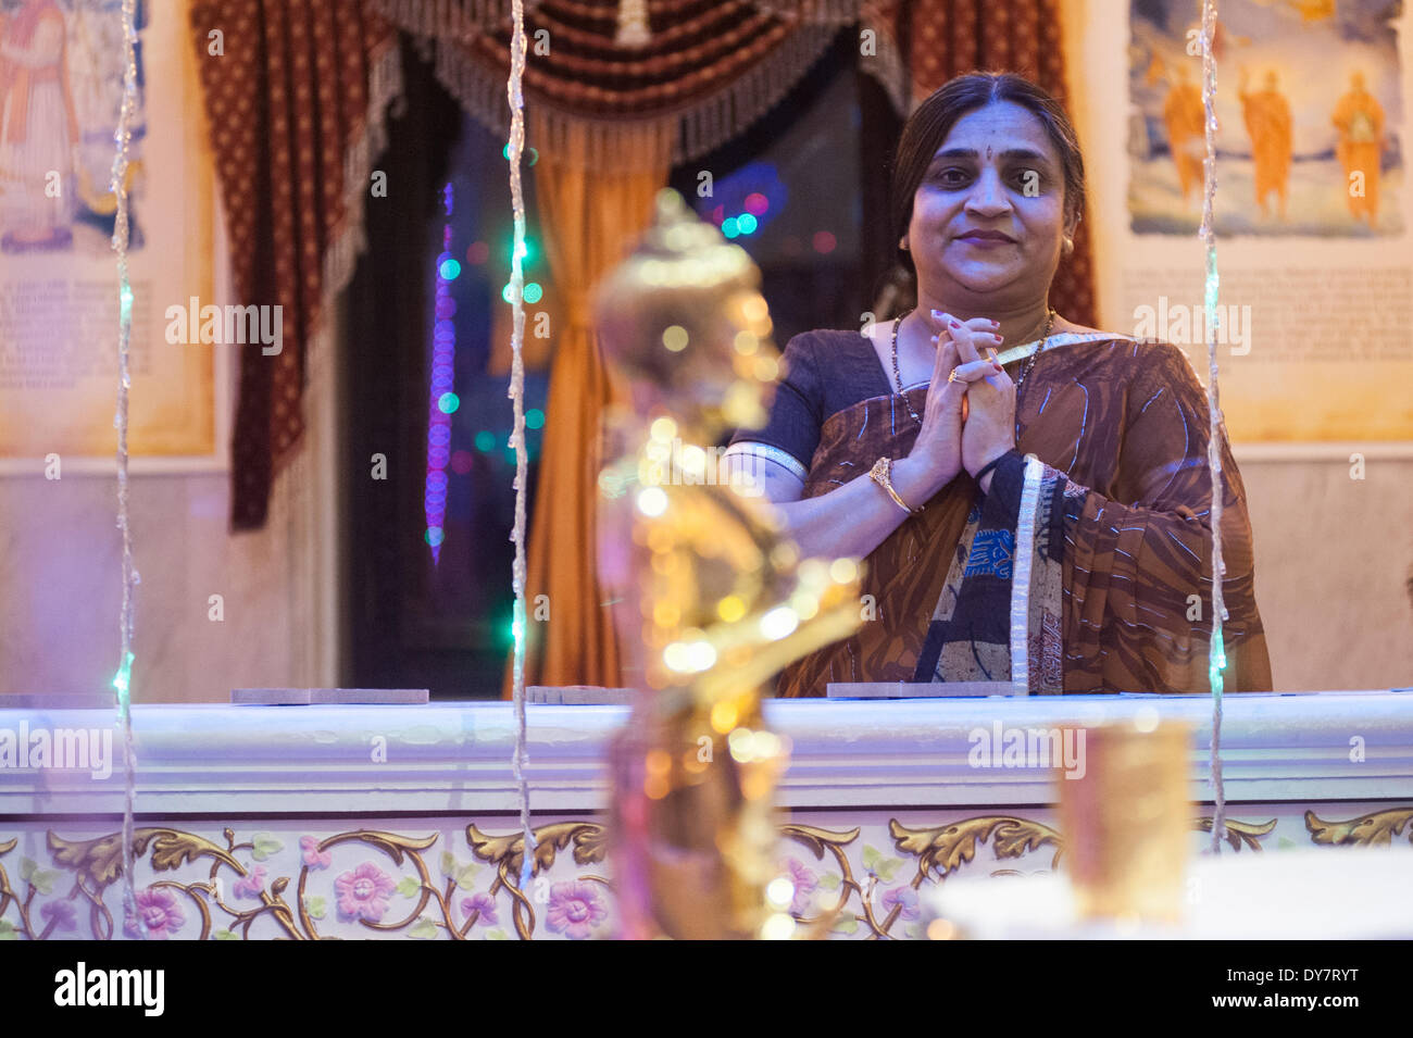
M 223 473 L 134 476 L 137 702 L 227 702 L 284 685 L 300 619 L 290 609 L 287 524 L 229 532 Z M 122 539 L 116 482 L 0 479 L 0 695 L 105 691 L 119 662 Z M 225 619 L 208 619 L 222 595 Z

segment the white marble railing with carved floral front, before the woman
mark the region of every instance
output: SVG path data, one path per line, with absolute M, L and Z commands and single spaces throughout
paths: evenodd
M 1212 816 L 1205 696 L 770 702 L 791 743 L 776 797 L 791 911 L 832 915 L 842 938 L 914 938 L 931 884 L 1053 871 L 1065 761 L 1027 760 L 1016 733 L 1145 710 L 1194 727 L 1195 853 Z M 136 706 L 150 936 L 610 935 L 602 756 L 627 710 L 527 713 L 538 850 L 521 890 L 507 703 Z M 113 720 L 0 709 L 0 939 L 136 933 Z M 1222 758 L 1225 853 L 1413 839 L 1413 693 L 1231 695 Z

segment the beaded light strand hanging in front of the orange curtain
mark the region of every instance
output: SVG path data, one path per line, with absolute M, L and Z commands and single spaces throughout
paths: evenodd
M 512 761 L 516 787 L 520 797 L 520 829 L 524 835 L 524 854 L 520 859 L 520 888 L 530 885 L 534 874 L 534 832 L 530 829 L 530 784 L 526 781 L 526 484 L 528 463 L 526 455 L 526 366 L 524 366 L 524 268 L 521 256 L 526 240 L 526 208 L 520 188 L 520 157 L 524 153 L 526 124 L 524 97 L 520 92 L 526 71 L 526 16 L 523 0 L 512 6 L 514 32 L 510 38 L 510 79 L 506 93 L 510 102 L 510 205 L 514 213 L 516 239 L 510 254 L 510 302 L 514 306 L 514 328 L 510 335 L 510 400 L 514 407 L 514 425 L 510 432 L 510 446 L 516 452 L 516 525 L 510 539 L 516 544 L 516 561 L 512 569 L 512 583 L 516 592 L 514 619 L 514 662 L 512 695 L 516 709 L 516 756 Z

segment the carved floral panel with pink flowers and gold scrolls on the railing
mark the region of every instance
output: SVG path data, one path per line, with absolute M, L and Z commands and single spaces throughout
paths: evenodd
M 1232 819 L 1236 853 L 1299 845 L 1413 842 L 1413 808 L 1293 805 Z M 1340 811 L 1340 808 L 1351 811 Z M 893 815 L 899 816 L 893 816 Z M 800 812 L 781 826 L 780 869 L 794 884 L 800 933 L 923 938 L 918 893 L 966 873 L 1019 876 L 1061 864 L 1051 812 Z M 907 819 L 906 822 L 903 819 Z M 856 822 L 841 825 L 841 822 Z M 462 825 L 397 819 L 335 829 L 336 819 L 208 829 L 138 826 L 137 915 L 154 939 L 595 939 L 615 931 L 606 832 L 592 818 L 536 828 L 531 881 L 519 885 L 523 837 L 503 818 Z M 6 830 L 8 829 L 8 832 Z M 1194 825 L 1197 852 L 1211 818 Z M 123 909 L 112 828 L 0 823 L 0 939 L 136 938 Z

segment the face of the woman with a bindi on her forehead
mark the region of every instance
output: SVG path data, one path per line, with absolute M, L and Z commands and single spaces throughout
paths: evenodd
M 1064 169 L 1040 120 L 1013 102 L 966 113 L 913 195 L 909 249 L 920 288 L 996 305 L 1044 298 L 1067 232 Z

